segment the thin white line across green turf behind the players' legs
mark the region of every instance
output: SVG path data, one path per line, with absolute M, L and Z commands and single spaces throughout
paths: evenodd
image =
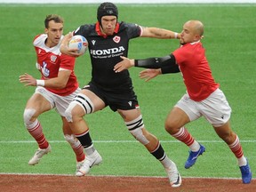
M 51 143 L 64 143 L 66 140 L 48 140 Z M 197 140 L 200 143 L 223 143 L 223 140 Z M 0 140 L 0 144 L 35 143 L 35 140 Z M 136 143 L 137 140 L 93 140 L 94 143 Z M 178 143 L 180 140 L 160 140 L 161 143 Z M 256 140 L 240 140 L 242 143 L 256 143 Z

